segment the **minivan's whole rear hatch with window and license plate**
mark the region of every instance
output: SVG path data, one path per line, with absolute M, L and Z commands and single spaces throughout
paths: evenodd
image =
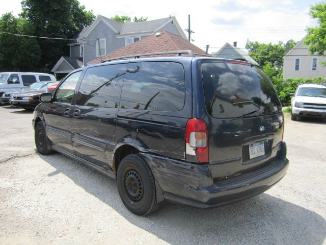
M 250 173 L 278 157 L 282 106 L 265 72 L 247 62 L 201 63 L 209 164 L 215 180 Z

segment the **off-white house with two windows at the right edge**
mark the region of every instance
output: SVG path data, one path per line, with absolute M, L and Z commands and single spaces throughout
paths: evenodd
M 309 55 L 304 37 L 284 57 L 283 78 L 326 78 L 326 57 Z

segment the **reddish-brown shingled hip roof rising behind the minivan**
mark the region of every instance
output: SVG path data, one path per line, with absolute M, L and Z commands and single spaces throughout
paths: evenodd
M 151 35 L 138 42 L 134 42 L 128 46 L 122 47 L 110 54 L 103 55 L 102 60 L 110 59 L 114 57 L 144 54 L 144 53 L 154 53 L 154 52 L 167 52 L 167 51 L 178 51 L 178 50 L 191 50 L 195 54 L 205 55 L 205 51 L 201 50 L 199 47 L 190 43 L 184 38 L 172 34 L 167 31 L 161 31 L 161 35 L 156 36 Z M 175 56 L 174 55 L 155 55 L 158 56 Z M 151 56 L 154 57 L 154 56 Z M 89 62 L 89 64 L 100 63 L 101 59 L 97 58 Z

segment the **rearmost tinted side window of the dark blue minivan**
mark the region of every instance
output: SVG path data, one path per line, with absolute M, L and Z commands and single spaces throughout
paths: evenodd
M 120 108 L 179 111 L 184 106 L 184 70 L 176 62 L 130 63 L 123 82 Z

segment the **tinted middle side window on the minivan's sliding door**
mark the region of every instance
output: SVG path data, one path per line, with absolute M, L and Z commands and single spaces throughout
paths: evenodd
M 127 64 L 90 67 L 80 84 L 76 105 L 119 107 L 119 99 Z

